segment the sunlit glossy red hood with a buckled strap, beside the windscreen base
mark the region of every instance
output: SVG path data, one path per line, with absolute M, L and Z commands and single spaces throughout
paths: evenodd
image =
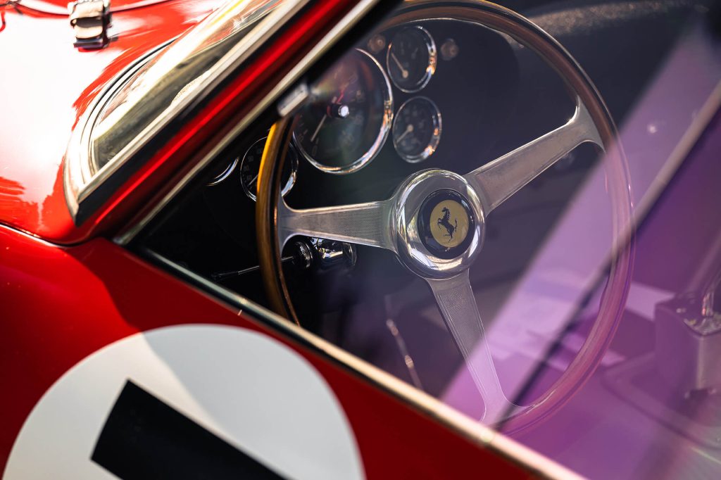
M 62 161 L 79 115 L 125 66 L 217 6 L 171 0 L 122 11 L 137 3 L 112 2 L 112 10 L 121 9 L 112 17 L 113 40 L 95 51 L 74 48 L 68 17 L 48 14 L 60 0 L 29 0 L 32 8 L 19 7 L 22 14 L 6 10 L 0 27 L 0 223 L 50 241 L 71 238 Z

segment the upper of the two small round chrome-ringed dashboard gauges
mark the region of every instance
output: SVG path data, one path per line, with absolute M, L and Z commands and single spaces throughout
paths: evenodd
M 405 27 L 391 39 L 386 55 L 388 74 L 403 92 L 417 92 L 435 73 L 435 42 L 423 27 Z

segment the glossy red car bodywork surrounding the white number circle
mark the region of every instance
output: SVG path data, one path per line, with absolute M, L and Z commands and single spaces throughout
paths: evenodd
M 179 324 L 221 324 L 277 339 L 302 355 L 348 416 L 369 478 L 525 478 L 562 472 L 540 455 L 485 430 L 459 432 L 418 411 L 282 332 L 239 314 L 149 265 L 110 238 L 187 168 L 185 140 L 202 138 L 228 112 L 208 105 L 156 159 L 80 227 L 63 192 L 63 155 L 81 112 L 102 86 L 143 53 L 182 35 L 214 2 L 113 3 L 116 37 L 102 50 L 71 45 L 61 1 L 4 7 L 0 90 L 0 471 L 22 425 L 48 388 L 84 358 L 137 332 Z M 319 1 L 234 84 L 239 105 L 278 76 L 283 59 L 333 25 L 350 2 Z M 127 8 L 127 9 L 125 9 Z M 179 168 L 180 167 L 180 168 Z M 130 280 L 132 279 L 132 280 Z M 12 365 L 12 366 L 11 366 Z M 482 465 L 482 472 L 477 471 Z M 474 474 L 472 474 L 474 475 Z

